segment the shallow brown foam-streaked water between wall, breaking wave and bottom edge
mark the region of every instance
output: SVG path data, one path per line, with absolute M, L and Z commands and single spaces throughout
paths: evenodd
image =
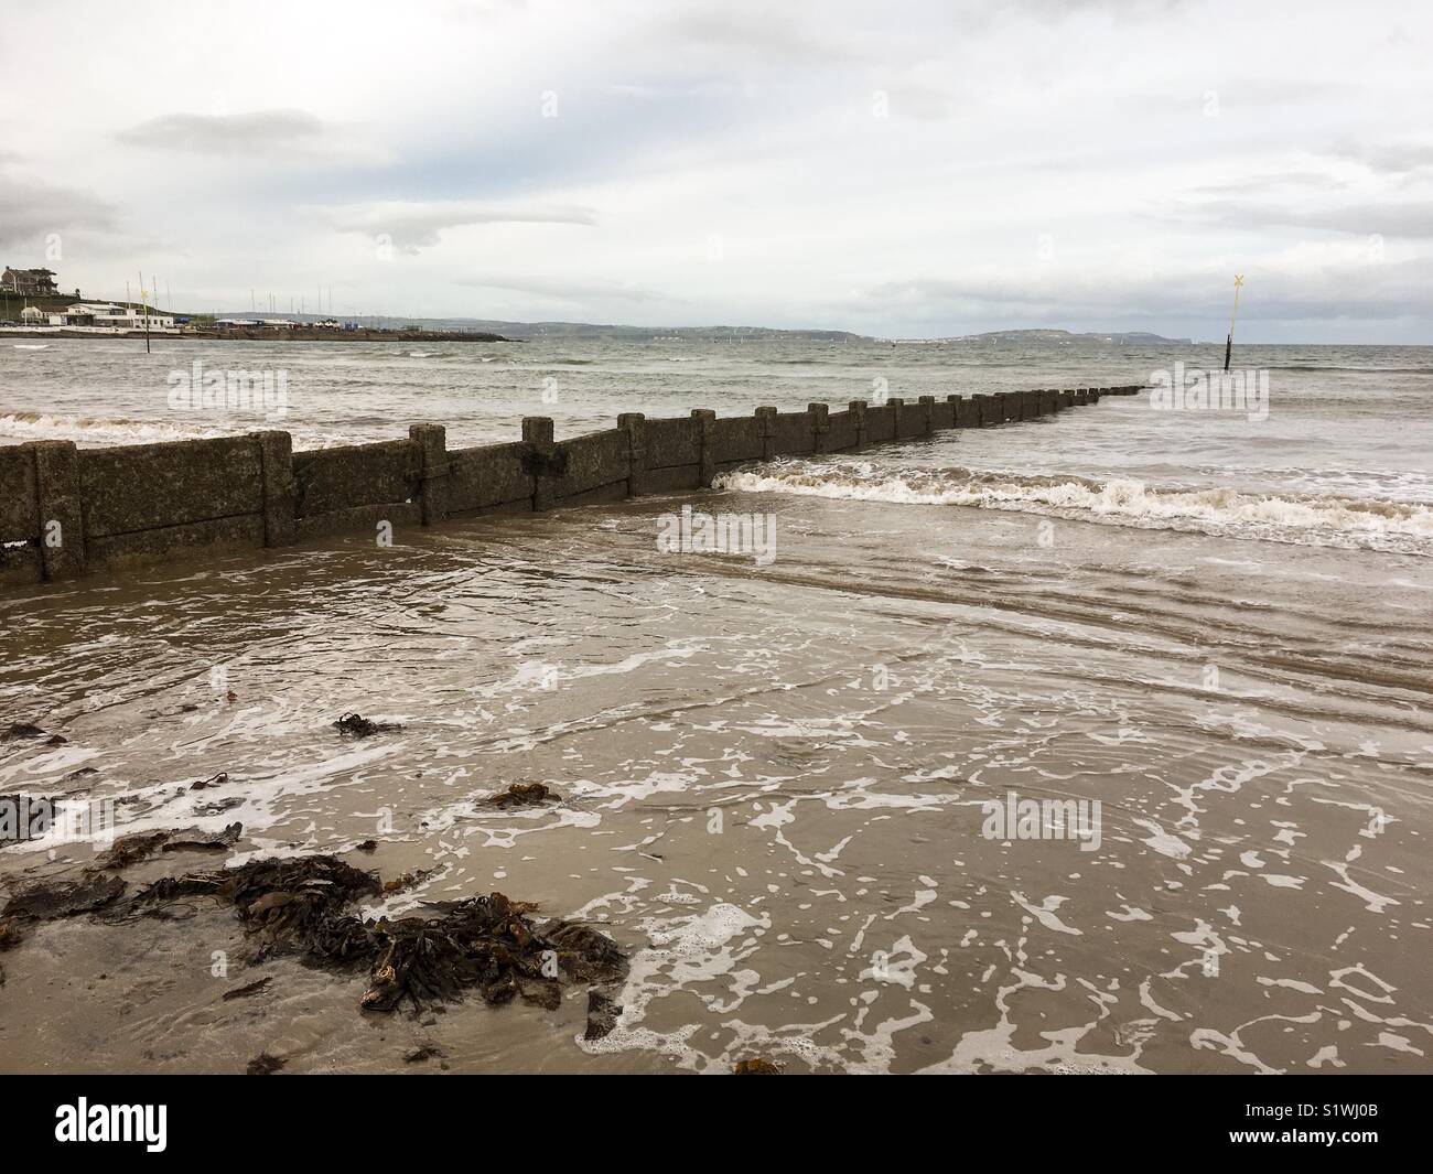
M 775 560 L 658 552 L 682 500 L 774 513 Z M 206 902 L 79 917 L 0 955 L 0 1069 L 1429 1071 L 1430 591 L 1407 553 L 728 490 L 0 596 L 0 717 L 69 740 L 0 745 L 0 793 L 244 824 L 130 880 L 331 851 L 433 870 L 375 909 L 497 889 L 632 956 L 585 1042 L 580 988 L 373 1016 Z M 562 801 L 481 806 L 522 780 Z M 992 829 L 1010 793 L 1098 800 L 1098 843 Z M 92 860 L 7 847 L 0 886 Z

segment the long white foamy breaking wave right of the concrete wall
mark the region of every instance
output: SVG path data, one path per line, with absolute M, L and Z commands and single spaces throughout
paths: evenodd
M 891 470 L 870 463 L 791 462 L 724 473 L 716 487 L 856 502 L 974 506 L 1197 530 L 1227 538 L 1433 556 L 1433 506 L 1228 487 L 1152 489 L 1134 479 L 1033 477 L 967 469 Z

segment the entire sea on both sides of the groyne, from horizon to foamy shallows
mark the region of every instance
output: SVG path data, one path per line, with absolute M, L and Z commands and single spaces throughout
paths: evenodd
M 0 338 L 0 443 L 279 427 L 449 447 L 618 413 L 1187 386 L 1224 345 Z M 198 366 L 196 366 L 198 364 Z M 178 869 L 325 851 L 500 890 L 631 958 L 616 1028 L 358 1011 L 231 910 L 47 923 L 0 1071 L 1433 1071 L 1433 348 L 1240 345 L 1238 407 L 1144 391 L 709 492 L 0 592 L 0 794 Z M 173 394 L 206 371 L 282 388 Z M 188 383 L 186 383 L 188 381 Z M 672 549 L 684 507 L 770 558 Z M 398 730 L 353 740 L 347 711 Z M 222 781 L 191 790 L 198 780 Z M 559 798 L 486 803 L 512 783 Z M 106 808 L 107 810 L 107 808 Z M 357 846 L 374 840 L 371 853 Z M 87 844 L 0 847 L 0 899 Z M 231 988 L 269 976 L 261 995 Z

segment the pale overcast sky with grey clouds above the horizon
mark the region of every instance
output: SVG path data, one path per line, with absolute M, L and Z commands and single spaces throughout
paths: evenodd
M 1242 274 L 1241 341 L 1427 344 L 1430 49 L 1424 0 L 6 0 L 0 264 L 891 338 L 1222 340 Z

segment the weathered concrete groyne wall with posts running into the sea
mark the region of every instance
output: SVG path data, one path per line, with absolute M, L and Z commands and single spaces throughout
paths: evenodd
M 295 453 L 287 431 L 77 449 L 40 440 L 0 447 L 0 585 L 203 553 L 287 546 L 388 523 L 613 502 L 711 486 L 741 464 L 916 440 L 941 429 L 1027 420 L 1138 387 L 853 400 L 845 411 L 758 407 L 718 417 L 618 417 L 606 431 L 555 440 L 549 417 L 522 439 L 449 449 L 441 424 L 406 440 Z

